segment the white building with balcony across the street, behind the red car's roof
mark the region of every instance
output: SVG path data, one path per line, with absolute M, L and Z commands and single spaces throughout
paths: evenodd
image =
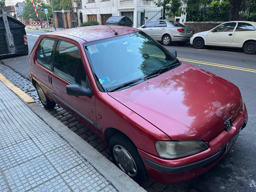
M 133 27 L 137 28 L 148 20 L 157 19 L 162 15 L 162 9 L 157 7 L 152 0 L 75 1 L 74 7 L 78 7 L 79 25 L 89 20 L 97 20 L 101 25 L 104 25 L 104 22 L 111 16 L 127 16 L 133 21 Z

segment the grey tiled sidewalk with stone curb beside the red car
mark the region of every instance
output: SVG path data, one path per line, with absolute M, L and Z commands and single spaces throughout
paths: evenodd
M 0 74 L 0 191 L 145 191 L 16 89 Z

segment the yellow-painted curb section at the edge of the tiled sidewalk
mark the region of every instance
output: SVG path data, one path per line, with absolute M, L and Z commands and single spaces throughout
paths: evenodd
M 22 98 L 26 103 L 35 103 L 35 100 L 32 99 L 29 95 L 27 95 L 21 89 L 15 87 L 10 81 L 8 81 L 4 75 L 0 73 L 0 80 L 15 94 L 17 94 L 20 98 Z

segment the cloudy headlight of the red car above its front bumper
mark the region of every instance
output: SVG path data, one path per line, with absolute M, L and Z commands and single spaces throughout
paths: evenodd
M 203 141 L 156 141 L 158 155 L 164 159 L 175 159 L 186 157 L 205 151 L 208 145 Z

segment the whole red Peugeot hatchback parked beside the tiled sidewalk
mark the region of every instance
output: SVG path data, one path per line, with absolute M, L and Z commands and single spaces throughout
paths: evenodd
M 138 29 L 80 27 L 40 35 L 30 77 L 45 108 L 87 124 L 127 175 L 173 183 L 214 166 L 248 118 L 234 84 L 174 55 Z

